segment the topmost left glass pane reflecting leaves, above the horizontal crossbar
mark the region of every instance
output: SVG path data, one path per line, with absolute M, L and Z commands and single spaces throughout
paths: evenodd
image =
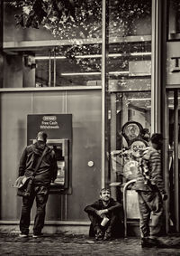
M 101 13 L 97 0 L 4 1 L 4 42 L 77 39 L 80 45 L 102 37 Z

